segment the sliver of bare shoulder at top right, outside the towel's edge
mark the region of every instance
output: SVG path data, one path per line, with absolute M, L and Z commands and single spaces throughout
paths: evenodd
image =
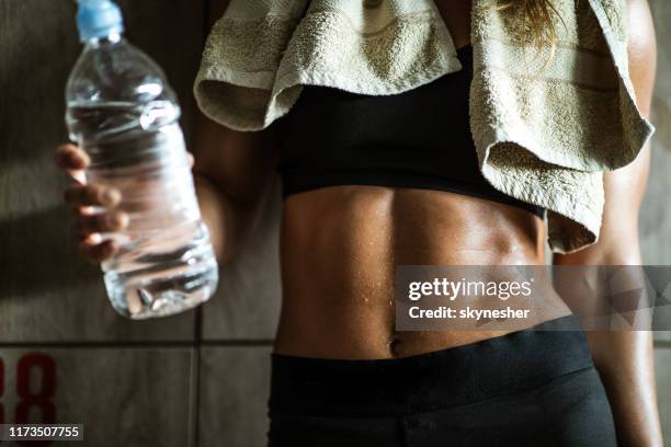
M 626 4 L 629 76 L 636 91 L 638 106 L 647 115 L 657 68 L 655 24 L 648 0 L 626 0 Z

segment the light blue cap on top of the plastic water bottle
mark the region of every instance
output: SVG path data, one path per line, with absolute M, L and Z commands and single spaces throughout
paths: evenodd
M 112 0 L 78 0 L 77 26 L 79 39 L 106 37 L 124 31 L 121 9 Z

